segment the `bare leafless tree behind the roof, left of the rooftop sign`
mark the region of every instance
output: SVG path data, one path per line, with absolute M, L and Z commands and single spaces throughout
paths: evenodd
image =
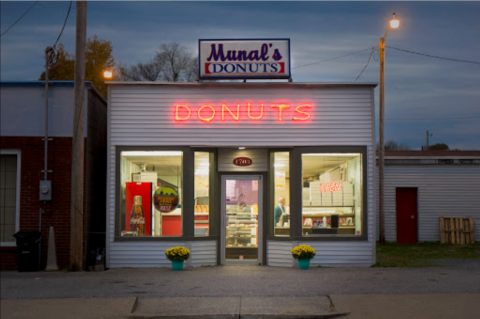
M 193 82 L 197 79 L 198 58 L 176 42 L 162 44 L 147 62 L 121 66 L 121 72 L 133 81 Z

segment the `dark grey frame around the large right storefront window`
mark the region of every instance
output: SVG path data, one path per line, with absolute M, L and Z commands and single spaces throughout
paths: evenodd
M 278 151 L 272 149 L 272 151 Z M 359 153 L 362 155 L 362 234 L 302 234 L 302 155 L 309 153 Z M 267 240 L 277 241 L 368 241 L 368 157 L 367 146 L 300 146 L 290 151 L 290 236 L 268 235 Z M 271 167 L 270 167 L 271 166 Z M 270 165 L 273 169 L 273 163 Z

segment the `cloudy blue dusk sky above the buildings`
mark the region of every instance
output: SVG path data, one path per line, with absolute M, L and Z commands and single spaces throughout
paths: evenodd
M 1 2 L 1 31 L 33 2 Z M 69 2 L 39 2 L 1 37 L 1 81 L 38 79 L 43 50 L 61 30 Z M 401 21 L 386 45 L 480 61 L 480 2 L 88 2 L 87 36 L 112 41 L 116 62 L 153 57 L 178 42 L 196 55 L 201 38 L 290 38 L 294 82 L 353 82 L 392 12 Z M 75 52 L 75 3 L 60 39 Z M 378 82 L 378 52 L 358 82 Z M 385 139 L 412 149 L 446 143 L 480 150 L 480 65 L 386 49 Z M 375 90 L 378 127 L 378 88 Z M 377 134 L 378 136 L 378 134 Z M 377 137 L 378 138 L 378 137 Z

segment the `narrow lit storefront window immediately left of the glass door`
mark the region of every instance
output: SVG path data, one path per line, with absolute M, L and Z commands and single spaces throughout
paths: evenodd
M 195 152 L 195 236 L 209 235 L 210 153 Z

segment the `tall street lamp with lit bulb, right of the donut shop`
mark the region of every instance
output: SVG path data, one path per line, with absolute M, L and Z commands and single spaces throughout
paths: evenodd
M 385 39 L 390 28 L 396 29 L 400 26 L 400 20 L 395 13 L 390 20 L 385 36 L 380 38 L 380 116 L 379 116 L 379 141 L 378 141 L 378 228 L 379 240 L 381 244 L 385 243 L 385 198 L 383 172 L 385 165 L 385 144 L 383 140 L 383 121 L 384 121 L 384 103 L 385 103 Z

